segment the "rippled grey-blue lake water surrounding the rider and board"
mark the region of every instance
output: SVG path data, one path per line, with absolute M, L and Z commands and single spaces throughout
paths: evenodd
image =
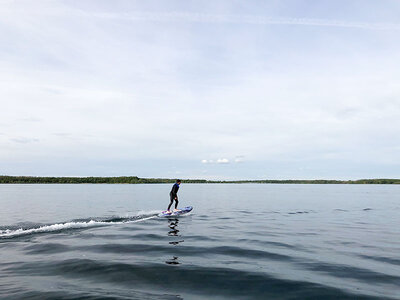
M 400 186 L 0 185 L 0 298 L 400 299 Z

